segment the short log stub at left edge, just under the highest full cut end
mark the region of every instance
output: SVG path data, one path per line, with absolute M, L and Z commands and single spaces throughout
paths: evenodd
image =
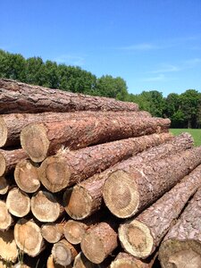
M 0 177 L 12 172 L 16 163 L 22 159 L 28 158 L 23 149 L 5 151 L 0 149 Z

